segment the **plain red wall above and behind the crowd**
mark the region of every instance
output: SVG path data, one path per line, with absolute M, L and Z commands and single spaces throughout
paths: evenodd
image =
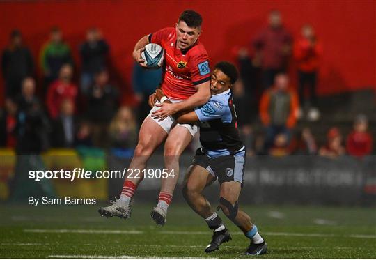
M 136 40 L 164 26 L 173 26 L 182 10 L 203 15 L 202 42 L 212 63 L 232 59 L 234 45 L 246 45 L 264 26 L 269 10 L 281 10 L 294 36 L 313 24 L 324 46 L 320 95 L 376 86 L 375 1 L 24 1 L 0 3 L 0 47 L 13 28 L 38 61 L 49 29 L 58 25 L 79 62 L 77 47 L 90 26 L 102 29 L 111 45 L 111 60 L 123 82 L 130 82 Z M 2 89 L 3 81 L 0 82 Z M 130 89 L 123 86 L 125 89 Z M 2 93 L 2 91 L 1 91 Z

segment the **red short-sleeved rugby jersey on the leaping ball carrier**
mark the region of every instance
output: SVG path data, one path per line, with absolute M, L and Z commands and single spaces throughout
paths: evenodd
M 210 80 L 209 56 L 197 42 L 189 49 L 176 48 L 176 29 L 168 27 L 149 35 L 150 43 L 164 49 L 162 91 L 173 100 L 185 100 L 196 93 L 194 86 Z

